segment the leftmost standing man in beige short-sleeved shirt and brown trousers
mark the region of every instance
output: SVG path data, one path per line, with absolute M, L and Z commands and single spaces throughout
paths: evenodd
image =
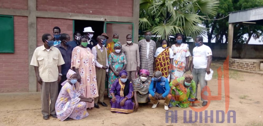
M 50 34 L 44 34 L 42 41 L 44 45 L 35 49 L 30 65 L 35 67 L 37 82 L 41 85 L 43 119 L 48 119 L 49 115 L 57 118 L 55 104 L 58 96 L 58 83 L 62 76 L 61 65 L 65 62 L 59 49 L 53 46 L 54 41 Z

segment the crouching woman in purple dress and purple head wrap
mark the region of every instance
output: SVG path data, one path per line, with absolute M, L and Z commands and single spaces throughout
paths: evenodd
M 120 78 L 115 80 L 109 91 L 112 99 L 110 101 L 111 111 L 116 113 L 132 113 L 134 103 L 132 102 L 132 82 L 127 79 L 127 72 L 119 72 Z

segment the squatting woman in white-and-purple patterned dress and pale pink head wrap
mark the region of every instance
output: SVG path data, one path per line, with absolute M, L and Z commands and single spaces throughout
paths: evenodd
M 75 89 L 75 83 L 77 82 L 77 74 L 73 70 L 69 70 L 67 73 L 67 80 L 61 83 L 63 86 L 55 105 L 57 118 L 60 121 L 70 119 L 82 119 L 89 116 L 86 110 L 85 102 L 93 102 L 92 98 L 86 98 L 81 96 Z

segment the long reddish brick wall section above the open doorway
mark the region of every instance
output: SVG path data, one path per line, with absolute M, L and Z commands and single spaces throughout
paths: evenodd
M 37 11 L 133 16 L 133 0 L 37 0 Z

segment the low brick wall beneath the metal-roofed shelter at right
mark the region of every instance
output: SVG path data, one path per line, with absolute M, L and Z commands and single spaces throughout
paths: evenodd
M 260 61 L 248 61 L 242 59 L 229 59 L 229 68 L 242 71 L 259 71 Z

